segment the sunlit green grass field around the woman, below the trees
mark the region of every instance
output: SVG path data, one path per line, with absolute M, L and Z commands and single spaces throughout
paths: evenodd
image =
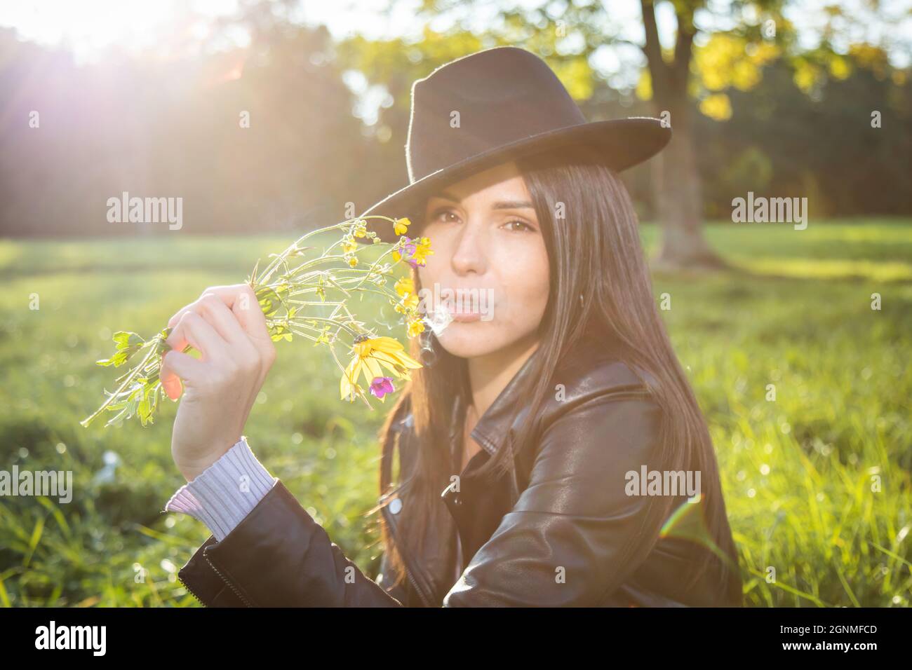
M 659 274 L 654 288 L 657 301 L 668 294 L 662 314 L 709 418 L 745 602 L 908 606 L 912 221 L 713 224 L 707 235 L 735 269 Z M 658 231 L 643 237 L 654 249 Z M 183 483 L 176 407 L 150 428 L 78 421 L 110 387 L 113 370 L 95 361 L 112 332 L 154 334 L 292 239 L 0 241 L 0 469 L 73 470 L 76 491 L 67 504 L 0 498 L 0 604 L 196 604 L 176 572 L 209 533 L 161 512 Z M 364 512 L 382 413 L 338 401 L 337 371 L 309 343 L 276 346 L 251 447 L 374 576 L 380 546 Z

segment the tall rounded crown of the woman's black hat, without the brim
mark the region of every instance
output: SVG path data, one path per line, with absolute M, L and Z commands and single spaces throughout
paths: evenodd
M 409 181 L 549 130 L 586 123 L 541 57 L 495 46 L 457 58 L 411 89 Z

